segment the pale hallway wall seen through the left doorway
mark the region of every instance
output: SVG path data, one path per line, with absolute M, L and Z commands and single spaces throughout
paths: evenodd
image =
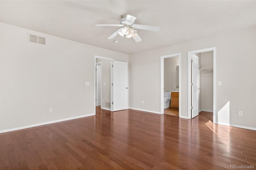
M 102 69 L 102 109 L 110 109 L 110 60 L 96 58 L 96 63 L 101 62 Z

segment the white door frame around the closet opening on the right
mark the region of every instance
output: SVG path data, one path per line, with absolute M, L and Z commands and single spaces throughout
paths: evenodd
M 213 123 L 216 123 L 216 47 L 188 51 L 188 119 L 191 119 L 191 59 L 196 53 L 213 51 Z

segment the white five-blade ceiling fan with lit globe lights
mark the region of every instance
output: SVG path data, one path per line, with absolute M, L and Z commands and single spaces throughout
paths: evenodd
M 133 38 L 135 42 L 141 42 L 140 36 L 137 34 L 137 30 L 148 30 L 148 31 L 155 31 L 158 32 L 160 30 L 160 27 L 158 26 L 146 26 L 146 25 L 140 25 L 140 24 L 134 24 L 134 21 L 136 20 L 135 16 L 131 15 L 125 15 L 122 17 L 120 24 L 97 24 L 95 26 L 117 26 L 122 27 L 119 30 L 117 30 L 114 34 L 112 34 L 108 40 L 112 40 L 115 38 L 118 34 L 122 37 L 124 35 L 126 38 Z M 135 28 L 135 29 L 134 29 Z

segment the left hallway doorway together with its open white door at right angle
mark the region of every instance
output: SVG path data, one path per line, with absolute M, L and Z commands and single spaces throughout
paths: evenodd
M 99 63 L 101 63 L 101 79 L 97 80 L 96 67 L 99 67 Z M 101 82 L 101 90 L 99 90 L 99 87 L 97 89 L 97 81 Z M 94 56 L 94 113 L 96 113 L 98 104 L 97 97 L 101 100 L 101 109 L 109 111 L 128 109 L 127 62 Z

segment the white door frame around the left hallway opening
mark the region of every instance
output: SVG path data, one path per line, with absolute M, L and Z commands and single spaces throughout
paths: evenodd
M 113 64 L 114 59 L 112 58 L 108 58 L 108 57 L 101 57 L 98 55 L 94 55 L 94 114 L 96 114 L 96 58 L 98 59 L 106 59 L 106 60 L 110 60 L 110 85 L 113 83 L 113 68 L 111 67 L 111 65 Z M 113 87 L 110 86 L 110 102 L 112 103 L 113 101 Z M 113 105 L 110 104 L 110 111 L 113 111 Z

